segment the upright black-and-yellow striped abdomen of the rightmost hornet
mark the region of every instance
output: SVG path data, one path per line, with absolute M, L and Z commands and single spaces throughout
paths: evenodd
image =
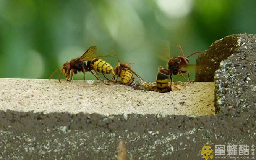
M 168 86 L 168 79 L 169 72 L 168 70 L 164 69 L 163 67 L 159 66 L 158 68 L 158 73 L 156 77 L 156 86 L 157 86 L 157 91 L 160 93 L 164 93 L 169 91 L 169 86 Z

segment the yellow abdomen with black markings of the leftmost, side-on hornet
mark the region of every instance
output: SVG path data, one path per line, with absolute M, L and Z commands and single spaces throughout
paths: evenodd
M 113 75 L 115 74 L 113 67 L 109 63 L 107 63 L 106 61 L 103 61 L 102 59 L 94 58 L 91 61 L 91 64 L 100 73 L 113 74 Z

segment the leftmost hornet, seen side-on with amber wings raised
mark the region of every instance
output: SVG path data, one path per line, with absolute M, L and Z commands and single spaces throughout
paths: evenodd
M 84 80 L 85 80 L 85 73 L 91 72 L 97 78 L 97 80 L 100 80 L 104 84 L 110 85 L 109 83 L 105 83 L 99 76 L 99 73 L 102 73 L 105 78 L 107 78 L 105 76 L 105 74 L 112 74 L 112 75 L 115 74 L 113 67 L 109 63 L 99 59 L 100 57 L 108 57 L 109 55 L 96 56 L 96 52 L 97 52 L 97 47 L 91 46 L 81 57 L 74 58 L 70 62 L 64 63 L 62 67 L 55 70 L 52 73 L 52 75 L 50 75 L 49 79 L 51 79 L 52 76 L 58 70 L 62 70 L 58 77 L 59 82 L 60 82 L 60 77 L 61 77 L 62 73 L 66 77 L 66 80 L 68 82 L 70 82 L 73 79 L 73 74 L 77 74 L 77 72 L 84 73 Z M 87 64 L 85 61 L 87 61 Z M 94 74 L 94 72 L 92 72 L 92 70 L 95 71 L 95 73 L 98 75 L 98 77 Z M 71 73 L 70 73 L 70 71 L 71 71 Z M 107 80 L 109 80 L 109 79 L 107 78 Z

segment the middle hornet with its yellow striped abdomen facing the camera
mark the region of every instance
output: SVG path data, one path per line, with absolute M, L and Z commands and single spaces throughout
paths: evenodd
M 117 66 L 115 67 L 115 75 L 117 75 L 118 77 L 121 78 L 123 84 L 125 84 L 125 85 L 128 84 L 128 86 L 130 86 L 131 83 L 133 83 L 133 81 L 135 79 L 133 77 L 133 74 L 135 74 L 139 78 L 139 80 L 143 81 L 143 79 L 141 77 L 139 77 L 139 75 L 131 69 L 130 64 L 134 64 L 133 62 L 128 63 L 128 64 L 122 63 L 119 61 L 117 53 L 115 53 L 115 51 L 113 51 L 113 50 L 112 50 L 112 52 L 117 57 L 117 62 L 118 62 Z M 113 76 L 112 81 L 115 80 L 115 75 Z M 116 78 L 115 83 L 117 83 L 118 77 Z

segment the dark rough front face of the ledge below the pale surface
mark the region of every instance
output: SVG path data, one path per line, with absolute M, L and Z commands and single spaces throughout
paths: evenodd
M 0 112 L 0 159 L 116 159 L 122 139 L 136 160 L 201 159 L 214 144 L 255 144 L 255 114 L 177 116 Z

